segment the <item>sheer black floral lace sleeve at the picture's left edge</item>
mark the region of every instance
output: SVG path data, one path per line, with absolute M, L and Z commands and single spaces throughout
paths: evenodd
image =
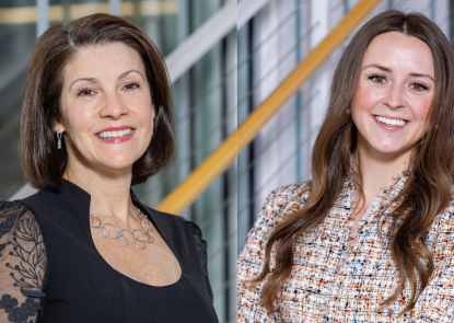
M 47 256 L 40 228 L 23 204 L 0 201 L 0 322 L 36 322 Z

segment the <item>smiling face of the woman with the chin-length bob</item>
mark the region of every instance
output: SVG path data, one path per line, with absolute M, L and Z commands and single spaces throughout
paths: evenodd
M 139 54 L 123 43 L 80 49 L 65 68 L 61 123 L 68 168 L 131 171 L 153 132 L 154 108 Z

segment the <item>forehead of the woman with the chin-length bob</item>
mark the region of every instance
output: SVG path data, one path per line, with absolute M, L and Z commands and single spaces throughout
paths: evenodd
M 144 72 L 142 58 L 130 46 L 123 43 L 86 46 L 78 49 L 65 67 L 65 79 L 113 77 L 129 69 Z

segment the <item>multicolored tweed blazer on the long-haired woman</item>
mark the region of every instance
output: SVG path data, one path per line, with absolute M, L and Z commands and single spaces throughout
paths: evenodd
M 410 297 L 408 284 L 391 305 L 380 307 L 397 285 L 397 269 L 388 247 L 389 214 L 400 203 L 406 181 L 405 172 L 395 176 L 352 228 L 354 187 L 347 180 L 321 226 L 298 240 L 291 275 L 278 292 L 271 315 L 260 301 L 264 281 L 255 286 L 244 281 L 261 272 L 265 245 L 275 226 L 300 209 L 311 194 L 305 183 L 273 191 L 238 258 L 237 322 L 454 322 L 453 200 L 435 218 L 427 235 L 435 269 L 414 310 L 399 315 Z M 271 270 L 275 258 L 272 250 Z

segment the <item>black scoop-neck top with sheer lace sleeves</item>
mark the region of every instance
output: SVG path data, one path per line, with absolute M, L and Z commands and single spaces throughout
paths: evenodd
M 200 229 L 131 195 L 178 259 L 176 282 L 154 287 L 110 267 L 92 240 L 90 195 L 63 181 L 0 203 L 0 322 L 218 322 Z

